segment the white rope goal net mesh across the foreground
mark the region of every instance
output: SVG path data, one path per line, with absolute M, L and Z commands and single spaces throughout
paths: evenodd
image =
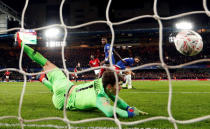
M 1 33 L 5 33 L 5 32 L 10 32 L 10 31 L 19 31 L 20 29 L 24 29 L 24 16 L 25 16 L 25 12 L 26 9 L 28 7 L 28 2 L 29 0 L 26 0 L 25 2 L 25 6 L 24 9 L 22 11 L 22 17 L 21 17 L 21 28 L 12 28 L 12 29 L 8 29 L 6 31 L 0 31 Z M 48 28 L 52 28 L 52 27 L 61 27 L 64 29 L 64 37 L 63 37 L 63 41 L 66 41 L 67 38 L 67 29 L 77 29 L 77 28 L 81 28 L 84 26 L 88 26 L 88 25 L 92 25 L 92 24 L 97 24 L 97 23 L 102 23 L 102 24 L 107 24 L 111 30 L 111 34 L 112 34 L 112 40 L 111 40 L 111 50 L 113 48 L 114 45 L 114 39 L 115 39 L 115 31 L 113 29 L 113 26 L 117 26 L 117 25 L 121 25 L 121 24 L 125 24 L 125 23 L 129 23 L 135 20 L 139 20 L 139 19 L 143 19 L 143 18 L 154 18 L 158 24 L 159 24 L 159 58 L 160 58 L 160 62 L 161 63 L 148 63 L 148 64 L 144 64 L 138 67 L 134 67 L 131 70 L 137 70 L 146 66 L 160 66 L 162 67 L 165 72 L 167 73 L 167 77 L 168 77 L 168 82 L 169 82 L 169 93 L 168 93 L 168 117 L 166 116 L 156 116 L 156 117 L 151 117 L 151 118 L 147 118 L 147 119 L 143 119 L 143 120 L 137 120 L 137 121 L 133 121 L 133 122 L 122 122 L 120 121 L 117 116 L 116 116 L 116 101 L 114 103 L 114 118 L 107 118 L 107 117 L 100 117 L 100 118 L 92 118 L 92 119 L 85 119 L 85 120 L 79 120 L 79 121 L 71 121 L 68 119 L 67 117 L 67 113 L 66 113 L 66 109 L 64 108 L 63 110 L 63 117 L 47 117 L 47 118 L 40 118 L 40 119 L 31 119 L 31 120 L 27 120 L 24 119 L 22 117 L 22 104 L 23 104 L 23 98 L 24 98 L 24 94 L 25 94 L 25 90 L 26 90 L 26 76 L 28 75 L 38 75 L 41 73 L 27 73 L 23 70 L 22 68 L 22 58 L 23 58 L 23 47 L 21 49 L 21 54 L 20 54 L 20 58 L 19 58 L 19 69 L 14 69 L 14 68 L 7 68 L 7 69 L 1 69 L 0 72 L 2 71 L 6 71 L 6 70 L 10 70 L 10 71 L 15 71 L 15 72 L 19 72 L 21 74 L 23 74 L 24 76 L 24 84 L 23 84 L 23 88 L 22 88 L 22 92 L 21 92 L 21 97 L 20 97 L 20 101 L 19 101 L 19 110 L 18 110 L 18 116 L 1 116 L 0 120 L 3 119 L 17 119 L 19 120 L 20 124 L 0 124 L 0 126 L 20 126 L 22 129 L 26 126 L 36 126 L 36 127 L 50 127 L 50 128 L 71 128 L 71 124 L 80 124 L 80 123 L 86 123 L 86 122 L 90 122 L 90 121 L 114 121 L 116 123 L 116 125 L 119 128 L 122 128 L 122 125 L 137 125 L 137 124 L 141 124 L 144 122 L 149 122 L 149 121 L 155 121 L 155 120 L 167 120 L 171 123 L 173 123 L 173 126 L 175 129 L 178 128 L 177 124 L 189 124 L 189 123 L 195 123 L 195 122 L 199 122 L 199 121 L 203 121 L 203 120 L 207 120 L 210 119 L 210 115 L 207 116 L 203 116 L 203 117 L 198 117 L 198 118 L 194 118 L 194 119 L 190 119 L 190 120 L 176 120 L 173 117 L 173 114 L 171 112 L 171 103 L 172 103 L 172 83 L 171 83 L 171 76 L 170 76 L 170 72 L 169 69 L 174 69 L 174 68 L 181 68 L 183 66 L 187 66 L 187 65 L 191 65 L 191 64 L 195 64 L 198 62 L 203 62 L 203 61 L 210 61 L 210 59 L 200 59 L 200 60 L 195 60 L 192 62 L 188 62 L 185 64 L 180 64 L 180 65 L 176 65 L 176 66 L 169 66 L 167 64 L 165 64 L 164 59 L 163 59 L 163 48 L 162 48 L 162 37 L 163 37 L 163 25 L 162 25 L 162 20 L 171 20 L 171 19 L 175 19 L 178 17 L 183 17 L 183 16 L 187 16 L 187 15 L 192 15 L 192 14 L 206 14 L 207 16 L 210 16 L 210 11 L 207 8 L 207 1 L 203 0 L 203 8 L 204 11 L 192 11 L 192 12 L 186 12 L 186 13 L 182 13 L 182 14 L 178 14 L 178 15 L 174 15 L 174 16 L 170 16 L 170 17 L 160 17 L 158 15 L 157 12 L 157 2 L 158 0 L 154 0 L 154 4 L 153 4 L 153 15 L 142 15 L 142 16 L 137 16 L 128 20 L 124 20 L 124 21 L 120 21 L 120 22 L 112 22 L 109 19 L 109 9 L 110 9 L 110 5 L 111 5 L 112 0 L 109 0 L 108 5 L 106 7 L 106 20 L 103 21 L 92 21 L 92 22 L 88 22 L 85 24 L 81 24 L 81 25 L 76 25 L 76 26 L 67 26 L 65 25 L 64 21 L 63 21 L 63 15 L 62 15 L 62 9 L 63 9 L 63 5 L 65 3 L 65 0 L 62 0 L 61 4 L 60 4 L 60 22 L 61 24 L 54 24 L 54 25 L 50 25 L 50 26 L 45 26 L 45 27 L 41 27 L 41 28 L 33 28 L 33 30 L 38 31 L 38 30 L 44 30 L 44 29 L 48 29 Z M 66 73 L 67 77 L 69 77 L 69 74 L 72 74 L 72 72 L 69 72 L 67 67 L 66 67 L 66 63 L 65 63 L 65 57 L 64 57 L 64 46 L 62 46 L 62 61 L 63 61 L 63 71 Z M 111 54 L 109 54 L 110 57 L 109 59 L 111 60 Z M 99 67 L 98 67 L 99 68 Z M 95 70 L 98 68 L 89 68 L 83 71 L 80 71 L 78 73 L 84 73 L 87 71 L 91 71 L 91 70 Z M 105 66 L 101 66 L 100 68 L 108 68 L 111 70 L 114 70 L 113 68 L 113 64 L 111 63 L 110 67 L 105 67 Z M 125 70 L 124 70 L 125 71 Z M 117 75 L 115 74 L 115 77 Z M 117 80 L 118 83 L 118 80 Z M 118 96 L 118 91 L 117 91 L 117 96 Z M 118 99 L 118 97 L 116 97 L 116 100 Z M 66 99 L 67 100 L 67 99 Z M 66 102 L 65 102 L 66 105 Z M 64 107 L 65 107 L 64 105 Z M 46 121 L 46 120 L 60 120 L 63 121 L 67 124 L 66 127 L 63 126 L 57 126 L 57 125 L 33 125 L 33 124 L 27 124 L 30 122 L 38 122 L 38 121 Z

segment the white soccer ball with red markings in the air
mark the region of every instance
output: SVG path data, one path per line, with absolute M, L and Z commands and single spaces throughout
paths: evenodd
M 179 32 L 174 39 L 174 43 L 176 49 L 186 56 L 197 55 L 203 49 L 202 37 L 192 30 Z

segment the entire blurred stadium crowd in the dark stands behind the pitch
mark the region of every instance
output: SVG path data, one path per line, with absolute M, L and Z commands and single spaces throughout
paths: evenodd
M 208 46 L 206 46 L 200 54 L 192 57 L 184 56 L 180 54 L 173 44 L 163 45 L 163 58 L 164 62 L 168 65 L 178 65 L 182 63 L 187 63 L 189 61 L 193 61 L 196 59 L 207 59 L 210 55 L 208 55 Z M 67 68 L 70 71 L 75 68 L 78 62 L 80 62 L 81 67 L 83 69 L 89 68 L 90 55 L 95 55 L 95 57 L 99 58 L 100 61 L 104 59 L 103 47 L 98 48 L 66 48 L 64 50 L 64 62 L 62 60 L 61 48 L 46 48 L 46 47 L 33 47 L 35 50 L 43 54 L 48 60 L 56 64 L 59 68 L 63 68 L 63 63 L 66 63 Z M 143 65 L 147 63 L 159 63 L 159 46 L 132 46 L 132 47 L 115 47 L 114 48 L 122 58 L 126 57 L 134 57 L 140 56 L 141 63 L 138 65 Z M 20 49 L 18 48 L 7 48 L 0 49 L 0 68 L 19 68 L 20 61 Z M 115 59 L 118 61 L 119 59 L 116 57 Z M 198 65 L 205 64 L 209 65 L 208 62 L 200 62 Z M 23 54 L 22 58 L 22 67 L 26 72 L 39 72 L 41 71 L 41 67 L 32 62 L 31 59 Z M 163 70 L 150 69 L 150 70 L 138 70 L 134 71 L 136 75 L 135 79 L 167 79 L 166 72 Z M 208 68 L 198 68 L 198 69 L 182 69 L 182 70 L 172 70 L 170 71 L 171 77 L 173 79 L 203 79 L 210 78 Z M 187 74 L 186 74 L 187 73 Z M 0 77 L 2 77 L 2 73 L 0 73 Z M 11 78 L 21 79 L 19 73 L 11 74 Z M 30 79 L 32 77 L 28 77 Z M 94 73 L 91 71 L 89 73 L 84 73 L 84 79 L 93 79 Z

